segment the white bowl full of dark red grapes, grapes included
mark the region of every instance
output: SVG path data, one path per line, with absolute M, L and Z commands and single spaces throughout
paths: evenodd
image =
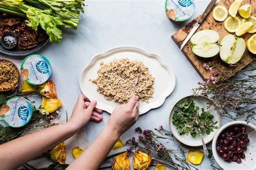
M 223 169 L 256 169 L 256 129 L 233 121 L 222 126 L 212 141 L 213 156 Z

